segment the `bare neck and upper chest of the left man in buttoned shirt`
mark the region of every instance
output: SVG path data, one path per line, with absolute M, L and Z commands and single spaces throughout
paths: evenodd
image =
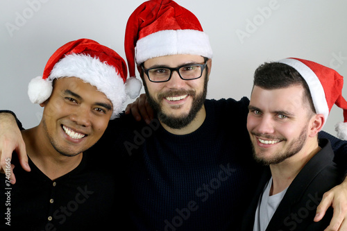
M 74 157 L 58 153 L 40 126 L 23 130 L 22 135 L 28 157 L 51 180 L 64 176 L 81 163 L 83 153 Z

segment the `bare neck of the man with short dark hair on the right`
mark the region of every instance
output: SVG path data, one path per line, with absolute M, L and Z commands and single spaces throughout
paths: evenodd
M 312 144 L 307 144 L 299 153 L 289 157 L 287 160 L 279 164 L 270 164 L 273 180 L 270 196 L 287 189 L 305 164 L 320 150 L 318 142 L 312 142 Z

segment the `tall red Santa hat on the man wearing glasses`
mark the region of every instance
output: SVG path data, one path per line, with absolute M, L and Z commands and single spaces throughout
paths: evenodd
M 135 62 L 150 58 L 178 54 L 212 58 L 208 35 L 196 16 L 171 0 L 142 3 L 128 19 L 124 45 L 130 76 L 135 76 Z

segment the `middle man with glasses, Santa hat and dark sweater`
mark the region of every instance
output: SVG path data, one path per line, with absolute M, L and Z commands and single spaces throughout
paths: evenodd
M 139 6 L 125 44 L 130 76 L 139 70 L 157 116 L 146 124 L 121 115 L 90 148 L 122 164 L 121 210 L 135 230 L 238 230 L 261 171 L 248 99 L 205 100 L 212 49 L 198 19 L 174 1 Z

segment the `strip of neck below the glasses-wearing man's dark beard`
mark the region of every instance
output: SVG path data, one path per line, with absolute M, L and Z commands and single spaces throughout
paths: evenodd
M 165 130 L 167 130 L 168 132 L 174 135 L 187 135 L 189 133 L 194 132 L 198 128 L 200 128 L 200 126 L 203 124 L 203 121 L 205 121 L 205 118 L 206 118 L 206 110 L 205 110 L 205 105 L 203 105 L 201 107 L 201 110 L 199 110 L 198 113 L 196 114 L 195 119 L 193 119 L 192 122 L 190 122 L 184 128 L 180 128 L 180 129 L 170 128 L 165 123 L 162 123 L 162 121 L 160 121 L 160 124 Z

